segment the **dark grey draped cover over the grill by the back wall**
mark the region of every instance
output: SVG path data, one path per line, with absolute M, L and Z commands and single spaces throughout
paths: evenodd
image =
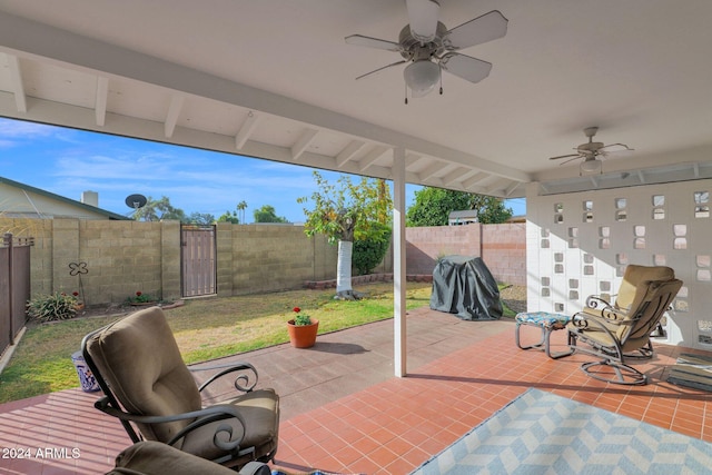
M 497 281 L 479 257 L 444 257 L 433 270 L 431 308 L 456 314 L 464 320 L 500 319 Z

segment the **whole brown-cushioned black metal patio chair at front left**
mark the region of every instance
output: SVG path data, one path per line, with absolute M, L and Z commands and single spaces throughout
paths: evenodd
M 105 393 L 95 407 L 118 417 L 132 442 L 162 442 L 236 468 L 274 461 L 278 395 L 254 389 L 257 370 L 246 363 L 221 367 L 198 387 L 160 308 L 139 310 L 90 333 L 81 349 Z M 239 394 L 202 407 L 201 392 L 228 374 Z

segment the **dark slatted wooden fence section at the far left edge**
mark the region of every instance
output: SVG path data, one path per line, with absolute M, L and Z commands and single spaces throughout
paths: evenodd
M 32 238 L 0 238 L 0 354 L 20 333 L 27 320 L 30 298 L 30 246 Z

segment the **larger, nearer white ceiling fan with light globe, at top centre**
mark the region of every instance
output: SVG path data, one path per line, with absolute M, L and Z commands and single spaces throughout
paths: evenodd
M 345 38 L 348 44 L 398 52 L 403 57 L 356 79 L 409 62 L 403 71 L 406 87 L 412 97 L 423 97 L 441 82 L 443 69 L 469 82 L 479 82 L 490 76 L 492 63 L 455 51 L 504 37 L 508 20 L 500 11 L 493 10 L 448 30 L 438 21 L 441 6 L 437 1 L 406 0 L 405 3 L 409 24 L 400 30 L 398 42 L 363 34 Z M 407 96 L 405 102 L 408 103 Z

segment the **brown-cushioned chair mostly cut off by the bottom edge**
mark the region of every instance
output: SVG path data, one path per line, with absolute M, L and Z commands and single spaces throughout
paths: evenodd
M 269 466 L 249 462 L 239 472 L 218 465 L 170 445 L 144 441 L 123 449 L 106 475 L 270 475 Z

